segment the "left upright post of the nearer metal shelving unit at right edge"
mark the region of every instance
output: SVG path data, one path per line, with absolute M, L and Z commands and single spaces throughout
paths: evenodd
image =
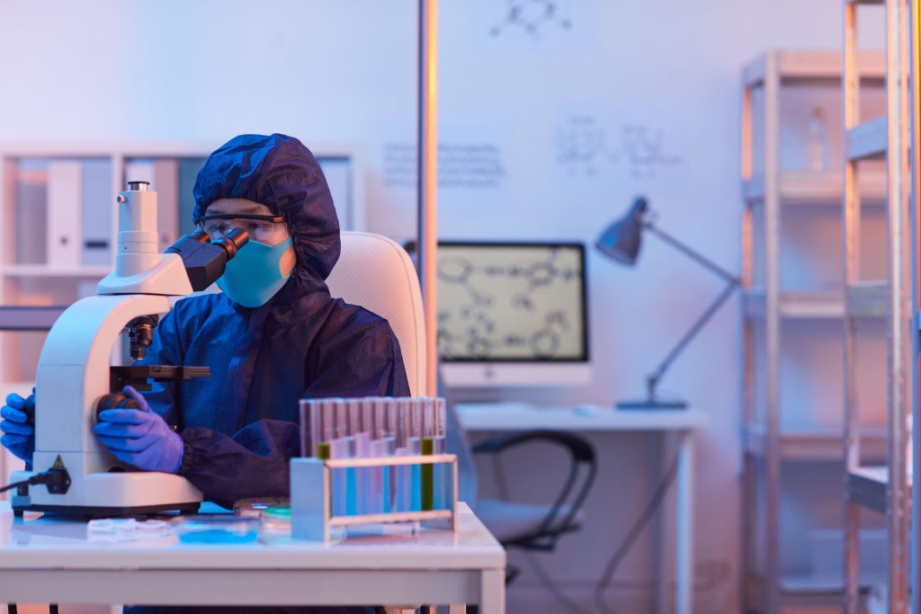
M 844 58 L 841 70 L 841 89 L 844 99 L 845 132 L 845 185 L 842 202 L 842 226 L 845 244 L 845 319 L 844 319 L 844 368 L 845 368 L 845 614 L 859 611 L 859 531 L 860 517 L 857 504 L 847 494 L 847 472 L 860 464 L 859 420 L 857 417 L 857 322 L 851 315 L 848 295 L 851 286 L 857 283 L 859 266 L 860 216 L 857 201 L 857 167 L 850 157 L 849 131 L 859 122 L 859 87 L 857 75 L 857 7 L 845 4 Z

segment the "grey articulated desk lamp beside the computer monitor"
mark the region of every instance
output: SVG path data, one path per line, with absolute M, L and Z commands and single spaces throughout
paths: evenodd
M 728 284 L 726 289 L 717 296 L 717 300 L 715 300 L 710 307 L 707 307 L 704 314 L 694 322 L 691 330 L 688 330 L 684 334 L 681 341 L 675 345 L 659 367 L 647 376 L 647 398 L 645 400 L 621 401 L 617 403 L 617 408 L 621 410 L 682 410 L 687 407 L 687 403 L 683 400 L 659 399 L 656 394 L 659 380 L 665 375 L 665 372 L 675 358 L 678 357 L 678 354 L 682 353 L 688 343 L 694 339 L 694 336 L 705 327 L 707 321 L 713 318 L 719 307 L 726 302 L 730 295 L 732 295 L 733 291 L 740 284 L 740 279 L 719 267 L 717 264 L 707 260 L 704 256 L 684 245 L 678 239 L 670 237 L 670 235 L 659 230 L 659 228 L 653 224 L 651 216 L 647 214 L 648 208 L 649 205 L 646 198 L 642 196 L 637 197 L 630 207 L 630 211 L 601 233 L 601 236 L 595 243 L 595 247 L 612 260 L 633 266 L 636 262 L 636 257 L 639 255 L 641 245 L 640 239 L 643 235 L 643 231 L 646 230 L 664 240 L 674 249 L 678 249 L 678 251 L 682 252 L 682 254 L 691 260 L 700 263 L 709 271 L 716 273 L 719 277 L 726 280 Z

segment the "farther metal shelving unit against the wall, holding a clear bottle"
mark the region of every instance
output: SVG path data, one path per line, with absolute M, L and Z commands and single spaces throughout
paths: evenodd
M 860 83 L 882 87 L 885 57 L 882 53 L 861 54 Z M 788 292 L 780 284 L 780 232 L 784 212 L 796 207 L 834 207 L 843 198 L 845 177 L 834 172 L 781 170 L 780 94 L 785 87 L 840 87 L 841 54 L 837 52 L 767 52 L 748 64 L 742 72 L 741 192 L 742 213 L 742 602 L 743 611 L 776 614 L 785 607 L 838 605 L 843 587 L 840 580 L 817 580 L 808 576 L 782 577 L 780 560 L 781 465 L 789 461 L 841 462 L 840 428 L 790 432 L 781 429 L 780 350 L 781 329 L 790 320 L 841 320 L 845 305 L 863 317 L 878 318 L 886 313 L 885 288 L 879 284 L 854 286 L 849 294 L 844 287 L 816 292 Z M 764 101 L 763 165 L 754 168 L 754 98 L 759 92 Z M 861 188 L 868 194 L 867 204 L 884 204 L 885 176 L 865 174 Z M 764 215 L 764 281 L 755 285 L 754 217 L 760 208 Z M 763 331 L 762 328 L 763 327 Z M 758 331 L 756 332 L 756 329 Z M 755 340 L 764 339 L 764 416 L 755 413 Z M 880 429 L 861 433 L 881 458 L 885 434 Z M 756 504 L 759 481 L 764 484 L 764 505 Z M 756 514 L 764 509 L 764 521 Z M 756 539 L 764 538 L 759 552 Z M 763 557 L 756 557 L 763 553 Z M 763 559 L 755 561 L 755 559 Z

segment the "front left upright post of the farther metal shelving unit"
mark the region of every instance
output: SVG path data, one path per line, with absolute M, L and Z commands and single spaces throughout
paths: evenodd
M 780 612 L 780 75 L 769 53 L 764 70 L 764 326 L 767 345 L 767 612 Z

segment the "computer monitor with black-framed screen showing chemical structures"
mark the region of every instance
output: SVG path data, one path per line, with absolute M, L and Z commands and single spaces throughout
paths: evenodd
M 438 353 L 451 387 L 588 384 L 581 243 L 438 243 Z

